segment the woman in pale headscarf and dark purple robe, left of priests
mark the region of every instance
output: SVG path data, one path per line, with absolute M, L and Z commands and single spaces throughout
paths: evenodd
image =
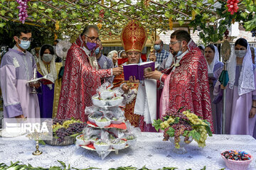
M 58 72 L 61 66 L 61 62 L 55 63 L 53 46 L 43 45 L 39 51 L 37 76 L 40 78 L 48 75 L 53 78 L 55 84 L 41 84 L 42 93 L 38 94 L 41 118 L 54 118 L 57 113 L 61 84 Z

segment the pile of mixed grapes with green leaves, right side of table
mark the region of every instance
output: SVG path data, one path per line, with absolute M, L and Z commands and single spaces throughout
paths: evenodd
M 162 118 L 163 120 L 154 120 L 154 128 L 156 131 L 159 129 L 164 130 L 164 141 L 174 137 L 177 149 L 180 148 L 181 136 L 185 137 L 184 142 L 187 144 L 191 142 L 189 138 L 192 137 L 193 140 L 196 140 L 199 147 L 205 147 L 207 136 L 212 136 L 210 123 L 191 113 L 190 110 L 181 113 L 181 109 L 178 111 L 167 111 L 166 115 Z

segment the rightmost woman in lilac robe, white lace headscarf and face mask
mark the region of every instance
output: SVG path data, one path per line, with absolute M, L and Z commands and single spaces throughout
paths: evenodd
M 256 114 L 256 69 L 253 69 L 250 46 L 244 38 L 235 41 L 228 61 L 228 85 L 215 84 L 216 101 L 225 98 L 225 134 L 252 135 Z

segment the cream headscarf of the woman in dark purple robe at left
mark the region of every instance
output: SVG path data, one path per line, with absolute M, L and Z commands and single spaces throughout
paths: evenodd
M 50 46 L 52 46 L 52 45 L 50 45 Z M 41 47 L 41 49 L 42 49 L 42 47 Z M 46 69 L 45 64 L 43 63 L 42 56 L 41 56 L 41 49 L 39 50 L 39 61 L 38 61 L 38 63 L 39 63 L 40 69 L 43 73 L 43 76 L 46 76 L 46 74 L 49 74 L 49 72 Z M 55 56 L 54 55 L 53 55 L 53 59 L 50 62 L 50 74 L 52 74 L 53 79 L 55 81 L 57 79 L 57 72 L 56 72 L 56 67 L 55 67 Z M 49 87 L 50 90 L 53 89 L 52 84 L 47 84 L 47 86 Z

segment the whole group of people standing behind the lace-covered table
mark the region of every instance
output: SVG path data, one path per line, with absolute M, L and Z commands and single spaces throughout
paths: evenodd
M 124 91 L 124 116 L 144 132 L 156 132 L 152 123 L 166 111 L 191 110 L 208 120 L 211 130 L 222 133 L 225 102 L 225 134 L 256 137 L 255 49 L 239 38 L 231 49 L 226 86 L 218 78 L 223 62 L 215 45 L 196 45 L 186 30 L 171 33 L 169 51 L 162 40 L 154 42 L 147 61 L 155 71 L 124 80 L 123 64 L 142 62 L 147 35 L 142 24 L 129 21 L 121 33 L 124 50 L 102 54 L 97 26 L 88 25 L 68 50 L 63 76 L 61 58 L 55 45 L 27 51 L 33 33 L 26 26 L 15 30 L 16 44 L 1 59 L 0 84 L 4 98 L 4 118 L 76 118 L 87 121 L 85 108 L 92 106 L 97 88 L 109 81 Z M 58 41 L 57 41 L 58 42 Z M 57 43 L 55 42 L 55 43 Z M 53 84 L 27 83 L 48 76 Z M 37 94 L 31 94 L 36 88 Z M 223 101 L 223 89 L 226 89 Z

